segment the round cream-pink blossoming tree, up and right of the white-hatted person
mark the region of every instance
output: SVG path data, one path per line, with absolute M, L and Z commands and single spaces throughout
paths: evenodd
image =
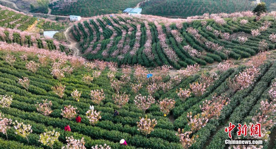
M 154 98 L 149 95 L 142 96 L 141 94 L 135 96 L 134 103 L 137 105 L 137 107 L 143 111 L 146 111 L 148 108 L 150 108 L 151 104 L 154 103 Z

